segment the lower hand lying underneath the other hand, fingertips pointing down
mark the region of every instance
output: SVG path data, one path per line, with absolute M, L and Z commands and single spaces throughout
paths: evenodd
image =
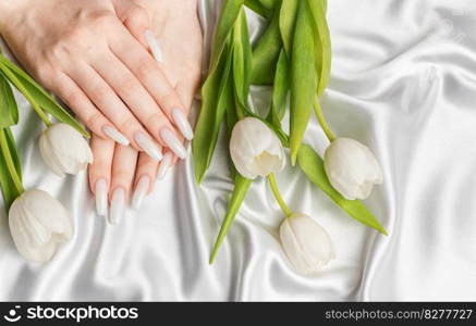
M 150 30 L 162 52 L 159 66 L 188 112 L 202 73 L 203 45 L 197 1 L 112 0 L 112 3 L 124 24 L 129 21 L 131 5 L 139 4 L 147 10 Z M 141 28 L 131 25 L 127 28 L 141 40 Z M 159 165 L 143 153 L 137 154 L 132 149 L 95 136 L 91 150 L 95 161 L 89 166 L 90 189 L 96 196 L 99 215 L 106 215 L 108 202 L 111 203 L 109 220 L 112 223 L 119 223 L 122 218 L 131 198 L 133 208 L 138 209 L 144 197 L 152 190 L 156 178 L 163 178 L 176 161 L 175 154 L 164 149 Z

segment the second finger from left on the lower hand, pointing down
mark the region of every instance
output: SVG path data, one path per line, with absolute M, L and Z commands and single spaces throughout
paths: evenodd
M 112 224 L 119 224 L 124 215 L 125 204 L 129 201 L 134 180 L 137 154 L 138 152 L 132 147 L 115 146 L 111 173 L 111 214 L 109 216 Z

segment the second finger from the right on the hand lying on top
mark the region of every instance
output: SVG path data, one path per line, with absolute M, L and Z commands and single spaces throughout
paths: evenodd
M 160 145 L 171 147 L 179 143 L 173 140 L 179 139 L 180 134 L 175 131 L 168 116 L 137 77 L 115 55 L 98 58 L 91 64 Z M 164 136 L 164 131 L 168 131 L 171 139 Z M 178 155 L 184 156 L 183 148 L 175 146 L 173 150 Z

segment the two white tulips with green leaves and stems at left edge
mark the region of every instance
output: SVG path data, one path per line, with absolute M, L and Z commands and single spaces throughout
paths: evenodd
M 48 192 L 25 190 L 22 164 L 10 130 L 19 122 L 11 86 L 23 93 L 47 126 L 39 140 L 40 153 L 57 174 L 76 174 L 93 162 L 88 133 L 34 79 L 0 53 L 0 186 L 9 225 L 19 252 L 27 260 L 49 261 L 59 243 L 73 236 L 68 210 Z M 51 123 L 48 113 L 60 123 Z

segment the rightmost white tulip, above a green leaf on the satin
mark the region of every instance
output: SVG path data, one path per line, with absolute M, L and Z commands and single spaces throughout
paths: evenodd
M 331 142 L 324 166 L 332 187 L 350 200 L 366 199 L 374 185 L 383 180 L 380 165 L 368 147 L 350 138 Z

